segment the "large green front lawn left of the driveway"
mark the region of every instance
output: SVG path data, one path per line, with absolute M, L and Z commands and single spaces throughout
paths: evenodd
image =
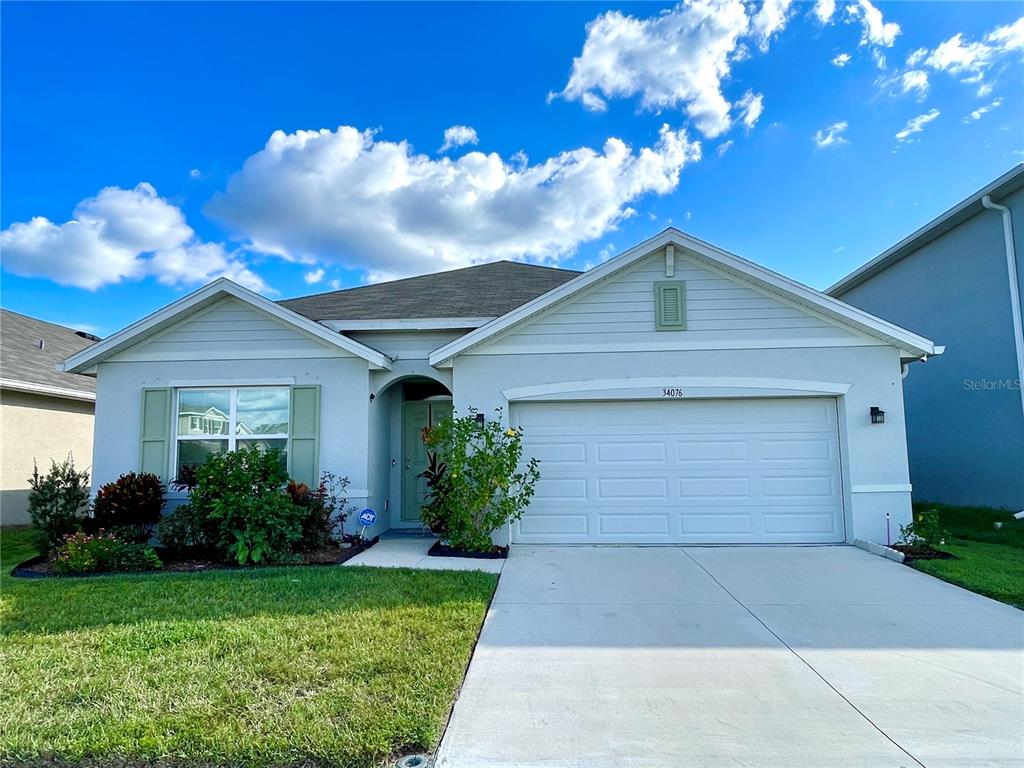
M 13 579 L 0 764 L 378 766 L 440 737 L 497 582 L 341 567 Z

